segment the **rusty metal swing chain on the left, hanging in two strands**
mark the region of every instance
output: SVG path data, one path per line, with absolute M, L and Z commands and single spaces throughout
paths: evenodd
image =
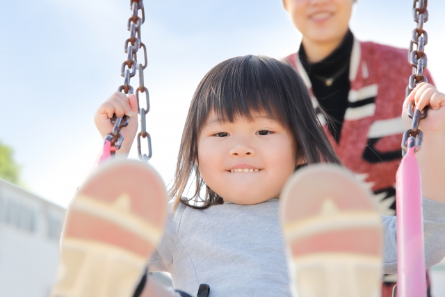
M 139 74 L 139 86 L 136 88 L 136 99 L 138 101 L 138 114 L 140 115 L 140 132 L 138 133 L 138 156 L 142 161 L 148 161 L 152 157 L 152 140 L 150 134 L 147 132 L 147 125 L 145 115 L 150 110 L 148 89 L 144 85 L 144 69 L 147 67 L 147 47 L 142 42 L 140 35 L 140 27 L 145 22 L 145 9 L 143 0 L 130 0 L 131 17 L 127 22 L 127 30 L 130 31 L 130 38 L 125 40 L 124 52 L 127 54 L 127 60 L 122 63 L 120 68 L 120 75 L 124 77 L 124 84 L 118 88 L 119 92 L 124 92 L 127 95 L 133 94 L 133 87 L 130 85 L 131 77 Z M 138 16 L 141 11 L 142 18 Z M 138 63 L 138 50 L 143 49 L 144 65 Z M 141 107 L 139 102 L 140 93 L 145 94 L 145 108 Z M 107 135 L 111 138 L 111 144 L 114 150 L 119 150 L 124 137 L 120 134 L 120 129 L 126 127 L 129 123 L 129 117 L 124 115 L 123 118 L 118 118 L 113 115 L 111 122 L 114 124 L 113 133 Z M 142 153 L 140 138 L 147 138 L 148 152 Z

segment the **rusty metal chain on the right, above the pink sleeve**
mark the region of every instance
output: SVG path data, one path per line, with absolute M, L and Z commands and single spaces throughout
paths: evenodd
M 412 75 L 406 90 L 406 97 L 410 95 L 411 91 L 418 83 L 428 82 L 423 69 L 428 65 L 428 57 L 425 54 L 425 46 L 428 44 L 428 33 L 423 29 L 423 24 L 428 22 L 428 0 L 414 0 L 412 5 L 412 17 L 417 23 L 416 29 L 412 31 L 410 49 L 408 51 L 408 62 L 412 65 Z M 414 49 L 416 45 L 416 49 Z M 408 106 L 408 115 L 412 118 L 412 128 L 405 131 L 402 139 L 402 155 L 407 152 L 408 147 L 416 146 L 415 152 L 421 149 L 423 141 L 423 133 L 419 129 L 419 122 L 426 118 L 428 106 L 425 106 L 422 111 L 415 109 L 413 102 Z

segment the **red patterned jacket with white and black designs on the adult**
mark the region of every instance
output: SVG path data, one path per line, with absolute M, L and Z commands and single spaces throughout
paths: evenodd
M 287 58 L 312 92 L 311 81 L 297 55 Z M 401 161 L 402 134 L 406 130 L 401 112 L 411 73 L 406 49 L 354 40 L 348 108 L 339 143 L 327 132 L 326 119 L 318 113 L 343 164 L 371 187 L 381 215 L 395 214 L 396 170 Z M 423 74 L 432 83 L 429 72 Z M 315 98 L 314 107 L 318 108 Z

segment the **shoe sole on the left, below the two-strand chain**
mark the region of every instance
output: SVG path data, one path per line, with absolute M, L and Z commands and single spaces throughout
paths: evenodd
M 68 207 L 51 296 L 133 296 L 166 217 L 165 186 L 152 167 L 104 163 Z

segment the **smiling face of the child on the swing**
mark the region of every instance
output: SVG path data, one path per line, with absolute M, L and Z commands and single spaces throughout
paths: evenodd
M 266 113 L 254 114 L 252 122 L 219 122 L 212 112 L 197 146 L 204 182 L 236 204 L 277 198 L 297 165 L 292 136 Z

